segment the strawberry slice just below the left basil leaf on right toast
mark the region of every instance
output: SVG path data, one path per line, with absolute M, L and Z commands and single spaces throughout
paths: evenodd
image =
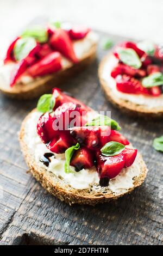
M 137 76 L 144 77 L 146 76 L 146 71 L 143 69 L 133 69 L 131 66 L 127 66 L 125 64 L 118 64 L 112 71 L 111 76 L 116 78 L 118 75 L 129 75 L 129 76 Z

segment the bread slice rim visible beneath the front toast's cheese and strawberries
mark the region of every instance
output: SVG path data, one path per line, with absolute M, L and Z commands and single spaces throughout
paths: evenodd
M 36 110 L 34 109 L 30 112 L 27 117 L 23 120 L 21 130 L 20 130 L 20 144 L 21 149 L 26 160 L 26 163 L 32 172 L 33 176 L 41 185 L 53 196 L 57 197 L 61 201 L 65 201 L 67 204 L 89 204 L 95 205 L 98 203 L 109 202 L 112 199 L 117 199 L 118 197 L 123 196 L 123 194 L 129 193 L 134 190 L 135 187 L 138 187 L 145 180 L 147 174 L 147 167 L 145 162 L 142 159 L 142 156 L 139 154 L 136 157 L 137 164 L 140 168 L 139 175 L 133 178 L 133 186 L 130 187 L 125 192 L 113 193 L 109 187 L 100 187 L 99 185 L 90 185 L 89 188 L 83 190 L 77 190 L 70 186 L 60 176 L 48 172 L 46 168 L 40 167 L 36 161 L 35 157 L 32 154 L 31 149 L 29 148 L 28 143 L 26 142 L 26 136 L 28 133 L 27 123 L 32 118 L 32 114 Z

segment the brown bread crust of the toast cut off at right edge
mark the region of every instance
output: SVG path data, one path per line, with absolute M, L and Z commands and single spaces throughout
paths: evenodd
M 132 101 L 126 99 L 123 99 L 123 97 L 117 97 L 115 94 L 115 91 L 112 89 L 113 87 L 111 84 L 108 84 L 108 81 L 106 81 L 103 77 L 103 71 L 105 68 L 106 63 L 112 58 L 112 53 L 109 53 L 106 55 L 102 62 L 99 64 L 99 69 L 98 69 L 98 76 L 99 80 L 101 83 L 101 87 L 104 90 L 104 93 L 106 95 L 106 98 L 116 107 L 118 107 L 122 112 L 130 114 L 130 115 L 135 115 L 139 117 L 144 117 L 144 118 L 162 118 L 163 117 L 163 107 L 149 107 L 147 105 L 139 105 L 138 103 L 133 103 Z M 108 75 L 111 70 L 108 70 Z M 112 78 L 113 80 L 114 78 Z M 112 83 L 112 81 L 110 81 Z M 130 94 L 128 94 L 130 95 Z M 144 96 L 146 99 L 149 99 L 149 97 L 152 96 Z M 155 100 L 156 97 L 153 97 Z M 163 97 L 162 97 L 163 100 Z

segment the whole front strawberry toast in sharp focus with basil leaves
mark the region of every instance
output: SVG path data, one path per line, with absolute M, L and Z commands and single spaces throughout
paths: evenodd
M 69 204 L 108 202 L 140 186 L 147 167 L 118 123 L 58 88 L 20 131 L 23 155 L 46 190 Z

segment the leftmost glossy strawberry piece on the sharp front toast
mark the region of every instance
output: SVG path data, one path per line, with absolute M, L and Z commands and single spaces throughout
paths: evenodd
M 48 112 L 41 115 L 37 123 L 37 133 L 44 143 L 48 143 L 54 137 L 60 135 L 60 131 L 54 130 L 56 117 L 52 117 Z

